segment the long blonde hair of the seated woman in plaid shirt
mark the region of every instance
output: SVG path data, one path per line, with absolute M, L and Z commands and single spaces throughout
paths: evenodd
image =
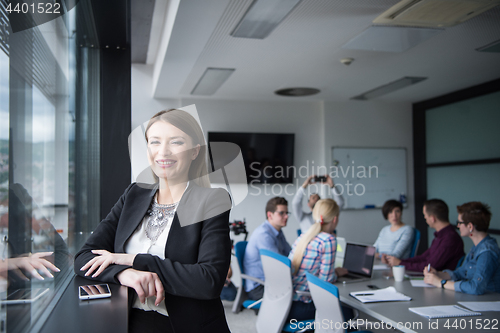
M 309 230 L 302 236 L 299 243 L 295 247 L 295 253 L 292 258 L 293 275 L 297 274 L 304 259 L 304 252 L 307 245 L 316 237 L 320 232 L 324 231 L 326 227 L 333 222 L 333 219 L 339 216 L 339 205 L 333 199 L 318 200 L 314 205 L 313 219 L 314 223 Z M 323 220 L 324 222 L 318 222 Z

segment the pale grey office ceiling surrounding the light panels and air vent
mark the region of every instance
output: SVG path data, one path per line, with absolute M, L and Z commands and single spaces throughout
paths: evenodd
M 342 48 L 396 3 L 302 0 L 267 38 L 259 40 L 230 35 L 252 0 L 156 0 L 147 37 L 147 62 L 155 67 L 152 95 L 194 97 L 191 92 L 209 67 L 235 69 L 215 94 L 204 97 L 209 99 L 348 101 L 405 76 L 427 77 L 374 99 L 413 103 L 500 78 L 500 53 L 476 51 L 500 40 L 500 6 L 444 28 L 403 52 Z M 133 14 L 132 29 L 137 20 Z M 141 45 L 140 38 L 132 33 L 132 52 Z M 347 57 L 354 59 L 349 66 L 340 62 Z M 308 97 L 274 94 L 290 87 L 321 92 Z

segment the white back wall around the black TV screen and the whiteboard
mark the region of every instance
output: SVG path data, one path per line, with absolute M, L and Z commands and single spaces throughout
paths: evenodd
M 349 101 L 345 103 L 229 101 L 208 99 L 154 99 L 151 87 L 152 67 L 132 66 L 132 127 L 154 113 L 171 107 L 196 104 L 205 134 L 208 131 L 275 132 L 295 134 L 295 167 L 330 166 L 332 146 L 406 147 L 408 149 L 408 203 L 403 220 L 414 225 L 412 116 L 410 104 Z M 289 203 L 305 179 L 306 170 L 293 186 L 259 185 L 250 187 L 246 199 L 231 212 L 231 221 L 245 218 L 253 231 L 265 219 L 265 204 L 276 196 Z M 274 192 L 273 192 L 274 190 Z M 324 191 L 322 192 L 322 194 Z M 307 207 L 304 205 L 304 210 Z M 290 209 L 289 209 L 290 210 Z M 349 241 L 373 243 L 386 225 L 379 210 L 344 211 L 338 234 Z M 292 243 L 299 223 L 291 217 L 286 238 Z

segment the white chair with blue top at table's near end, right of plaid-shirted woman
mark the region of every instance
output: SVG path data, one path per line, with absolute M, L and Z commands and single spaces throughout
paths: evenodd
M 307 284 L 311 292 L 314 305 L 316 306 L 315 322 L 318 323 L 315 333 L 338 333 L 347 332 L 342 328 L 344 316 L 339 302 L 339 289 L 326 281 L 306 272 Z M 330 323 L 322 325 L 322 323 Z M 345 327 L 345 325 L 344 325 Z M 370 332 L 370 331 L 357 331 Z

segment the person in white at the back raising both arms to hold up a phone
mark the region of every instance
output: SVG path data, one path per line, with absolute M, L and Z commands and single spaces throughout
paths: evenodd
M 314 224 L 314 220 L 312 217 L 312 210 L 313 210 L 316 202 L 319 199 L 321 199 L 317 193 L 311 194 L 309 196 L 309 200 L 307 201 L 307 205 L 309 206 L 309 209 L 311 211 L 306 213 L 302 210 L 302 199 L 304 198 L 304 195 L 306 194 L 307 186 L 314 184 L 314 182 L 313 182 L 314 177 L 315 177 L 315 175 L 307 177 L 306 181 L 299 188 L 299 190 L 295 194 L 295 197 L 293 198 L 293 201 L 292 201 L 292 211 L 295 214 L 295 216 L 297 217 L 297 220 L 300 223 L 300 230 L 302 230 L 303 233 L 305 233 L 309 229 L 309 227 Z M 333 184 L 333 179 L 329 175 L 326 175 L 325 183 L 328 184 L 328 186 L 330 186 L 330 188 L 332 190 L 333 200 L 335 200 L 335 202 L 339 206 L 339 209 L 342 210 L 342 207 L 344 206 L 344 198 L 342 197 L 342 195 L 340 195 L 337 192 L 337 189 L 335 188 L 335 185 Z

